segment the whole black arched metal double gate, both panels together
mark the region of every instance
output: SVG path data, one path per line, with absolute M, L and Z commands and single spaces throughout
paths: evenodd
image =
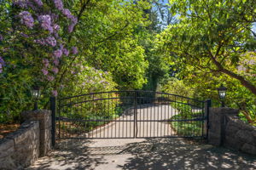
M 152 91 L 51 99 L 55 139 L 207 137 L 210 100 Z

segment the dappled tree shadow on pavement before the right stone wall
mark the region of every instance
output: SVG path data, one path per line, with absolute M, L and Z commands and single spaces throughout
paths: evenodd
M 147 139 L 125 152 L 134 157 L 120 169 L 256 169 L 256 156 L 184 139 Z

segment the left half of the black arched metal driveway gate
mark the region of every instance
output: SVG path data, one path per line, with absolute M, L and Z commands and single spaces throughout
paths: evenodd
M 58 138 L 134 138 L 134 102 L 134 91 L 60 99 L 56 125 Z

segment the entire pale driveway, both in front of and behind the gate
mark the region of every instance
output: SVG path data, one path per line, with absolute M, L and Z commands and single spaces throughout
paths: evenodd
M 134 120 L 127 111 L 121 120 Z M 137 111 L 137 136 L 173 135 L 170 125 L 163 120 L 177 111 L 168 105 L 145 106 Z M 158 120 L 158 122 L 140 122 Z M 133 122 L 113 122 L 91 133 L 94 137 L 133 136 Z M 124 130 L 125 129 L 125 130 Z M 28 170 L 179 170 L 179 169 L 256 169 L 256 157 L 224 148 L 213 147 L 202 141 L 177 138 L 155 139 L 85 139 L 58 141 L 49 156 L 40 158 Z

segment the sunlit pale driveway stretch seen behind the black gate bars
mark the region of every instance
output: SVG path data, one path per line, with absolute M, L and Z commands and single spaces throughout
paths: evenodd
M 126 110 L 118 122 L 110 122 L 89 133 L 90 138 L 144 138 L 174 136 L 169 120 L 177 111 L 171 105 L 138 105 L 134 110 Z M 137 120 L 136 126 L 134 126 Z M 85 134 L 88 135 L 88 134 Z

